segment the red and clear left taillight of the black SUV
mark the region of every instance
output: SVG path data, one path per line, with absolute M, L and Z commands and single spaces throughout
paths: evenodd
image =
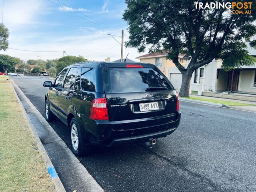
M 94 120 L 108 120 L 108 108 L 106 98 L 97 98 L 92 101 L 90 118 Z

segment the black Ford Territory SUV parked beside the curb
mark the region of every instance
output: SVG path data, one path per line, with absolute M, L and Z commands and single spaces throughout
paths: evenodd
M 180 124 L 178 93 L 152 64 L 76 63 L 44 86 L 46 118 L 68 126 L 76 155 L 92 145 L 154 144 Z

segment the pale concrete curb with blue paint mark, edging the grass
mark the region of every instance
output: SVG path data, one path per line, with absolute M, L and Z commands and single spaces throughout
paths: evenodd
M 22 102 L 20 101 L 20 98 L 18 97 L 15 89 L 14 89 L 14 86 L 16 86 L 16 84 L 14 83 L 14 81 L 11 79 L 10 80 L 11 84 L 12 84 L 12 89 L 14 90 L 14 94 L 18 100 L 18 103 L 20 104 L 20 107 L 22 108 L 22 111 L 23 111 L 23 114 L 28 122 L 28 126 L 30 127 L 30 130 L 32 132 L 32 136 L 34 137 L 34 139 L 36 140 L 36 145 L 38 146 L 38 150 L 42 153 L 43 155 L 43 158 L 44 158 L 44 161 L 46 162 L 46 166 L 47 166 L 47 169 L 48 169 L 48 173 L 52 179 L 52 181 L 54 182 L 54 188 L 56 191 L 58 192 L 66 192 L 64 186 L 62 185 L 62 182 L 60 181 L 60 178 L 58 177 L 58 174 L 56 173 L 55 169 L 54 169 L 54 166 L 52 165 L 52 162 L 48 156 L 48 154 L 46 153 L 45 149 L 44 149 L 44 146 L 41 142 L 41 140 L 39 139 L 37 133 L 36 133 L 36 130 L 34 128 L 34 126 L 32 125 L 29 117 L 28 117 L 28 114 L 26 113 L 26 110 L 24 109 L 24 106 L 22 104 Z

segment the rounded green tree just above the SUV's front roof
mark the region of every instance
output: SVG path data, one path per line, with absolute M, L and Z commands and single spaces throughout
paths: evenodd
M 65 56 L 62 58 L 58 59 L 58 62 L 56 64 L 56 69 L 57 72 L 59 73 L 62 69 L 64 69 L 66 66 L 72 65 L 74 63 L 78 63 L 78 62 L 84 62 L 84 61 L 88 61 L 87 59 L 85 59 L 82 56 Z

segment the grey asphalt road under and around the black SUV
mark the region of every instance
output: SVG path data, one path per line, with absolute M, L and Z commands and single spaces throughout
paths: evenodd
M 12 79 L 44 115 L 47 88 L 42 84 L 47 79 Z M 94 148 L 78 159 L 108 192 L 255 192 L 256 114 L 184 101 L 180 110 L 179 128 L 158 139 L 153 148 L 143 144 Z M 60 120 L 50 125 L 70 147 L 65 125 Z

